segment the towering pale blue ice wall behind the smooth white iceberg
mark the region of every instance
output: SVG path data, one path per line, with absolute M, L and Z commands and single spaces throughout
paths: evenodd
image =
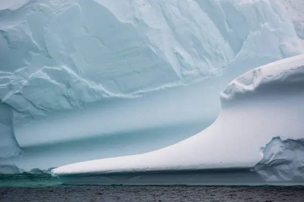
M 0 173 L 148 152 L 204 130 L 232 79 L 304 53 L 303 4 L 0 1 Z

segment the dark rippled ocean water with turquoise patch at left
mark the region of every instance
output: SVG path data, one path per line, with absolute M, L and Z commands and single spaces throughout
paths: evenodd
M 304 187 L 67 186 L 50 175 L 0 175 L 0 201 L 304 202 Z

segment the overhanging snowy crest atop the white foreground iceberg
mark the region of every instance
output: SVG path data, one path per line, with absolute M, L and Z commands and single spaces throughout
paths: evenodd
M 274 84 L 280 86 L 303 85 L 304 55 L 279 60 L 244 73 L 221 92 L 221 100 L 231 100 L 237 94 L 254 92 Z M 278 93 L 282 92 L 278 91 Z

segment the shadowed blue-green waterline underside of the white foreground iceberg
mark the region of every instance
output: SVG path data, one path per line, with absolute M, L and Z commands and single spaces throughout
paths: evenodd
M 58 178 L 69 185 L 304 185 L 304 181 L 267 181 L 251 169 L 96 173 Z

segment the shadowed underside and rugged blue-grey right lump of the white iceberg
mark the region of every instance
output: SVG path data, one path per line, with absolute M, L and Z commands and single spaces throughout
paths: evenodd
M 304 141 L 273 138 L 253 168 L 165 170 L 60 175 L 73 185 L 304 185 Z

